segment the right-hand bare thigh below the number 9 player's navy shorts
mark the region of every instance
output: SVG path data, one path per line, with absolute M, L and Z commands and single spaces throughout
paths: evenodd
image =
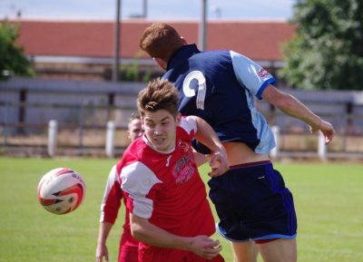
M 274 241 L 258 244 L 260 255 L 264 262 L 296 262 L 296 239 L 279 238 Z

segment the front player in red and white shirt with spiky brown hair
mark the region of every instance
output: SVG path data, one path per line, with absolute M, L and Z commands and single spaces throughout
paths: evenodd
M 219 241 L 210 238 L 214 219 L 191 140 L 211 149 L 210 176 L 228 170 L 226 153 L 211 126 L 182 118 L 178 105 L 172 82 L 150 82 L 138 97 L 144 134 L 117 164 L 132 236 L 141 240 L 139 262 L 224 261 Z

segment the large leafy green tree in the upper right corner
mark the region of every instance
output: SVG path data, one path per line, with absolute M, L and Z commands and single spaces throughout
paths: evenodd
M 307 90 L 363 90 L 363 0 L 305 0 L 294 8 L 297 31 L 280 77 Z

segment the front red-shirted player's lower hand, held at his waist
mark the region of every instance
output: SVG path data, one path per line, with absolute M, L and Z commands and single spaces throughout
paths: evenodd
M 213 240 L 207 236 L 191 238 L 191 252 L 200 257 L 211 259 L 218 256 L 221 249 L 222 247 L 219 240 Z

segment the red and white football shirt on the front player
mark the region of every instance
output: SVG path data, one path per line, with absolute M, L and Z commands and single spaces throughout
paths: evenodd
M 182 118 L 174 150 L 154 150 L 143 135 L 132 142 L 117 164 L 130 212 L 184 237 L 211 236 L 215 231 L 206 189 L 191 149 L 195 132 L 195 121 Z M 141 243 L 139 261 L 179 261 L 188 253 Z

